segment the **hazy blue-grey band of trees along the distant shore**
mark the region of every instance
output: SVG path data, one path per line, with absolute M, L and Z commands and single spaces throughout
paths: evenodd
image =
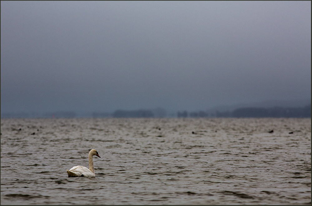
M 115 118 L 153 118 L 166 117 L 166 110 L 157 108 L 155 110 L 116 110 L 113 113 L 107 112 L 93 112 L 93 118 L 115 117 Z M 35 113 L 2 113 L 1 118 L 75 118 L 75 112 L 58 111 L 45 113 L 43 115 Z M 186 110 L 177 112 L 178 118 L 208 118 L 208 117 L 297 117 L 297 118 L 311 118 L 311 104 L 305 107 L 272 107 L 272 108 L 258 108 L 258 107 L 244 107 L 234 111 L 225 111 L 209 113 L 205 111 L 188 112 Z

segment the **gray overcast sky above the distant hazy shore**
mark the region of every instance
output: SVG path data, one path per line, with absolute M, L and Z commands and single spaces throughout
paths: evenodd
M 1 1 L 1 113 L 311 99 L 311 1 Z

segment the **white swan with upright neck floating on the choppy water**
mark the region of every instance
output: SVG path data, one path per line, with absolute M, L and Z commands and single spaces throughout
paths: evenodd
M 93 155 L 100 157 L 99 153 L 96 150 L 90 150 L 89 169 L 79 165 L 71 168 L 70 170 L 66 169 L 68 177 L 95 177 Z

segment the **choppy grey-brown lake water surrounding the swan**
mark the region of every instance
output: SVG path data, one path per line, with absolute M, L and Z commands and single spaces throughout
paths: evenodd
M 311 204 L 311 119 L 1 119 L 1 204 Z

